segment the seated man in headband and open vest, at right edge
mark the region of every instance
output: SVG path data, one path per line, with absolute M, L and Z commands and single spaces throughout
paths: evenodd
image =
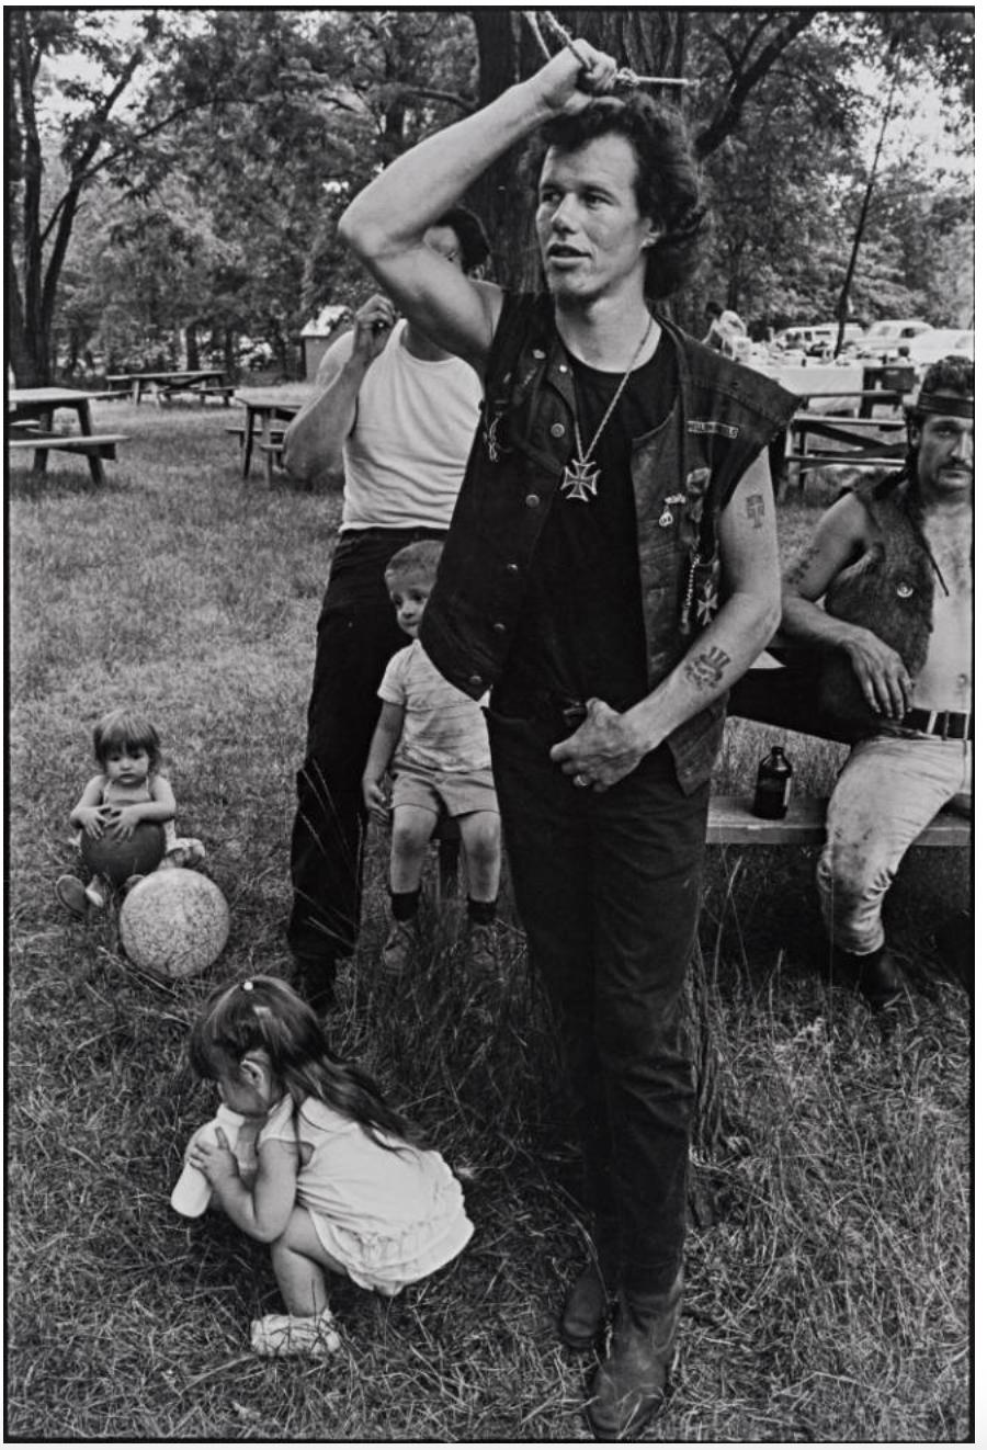
M 904 468 L 839 499 L 784 589 L 784 631 L 826 651 L 820 705 L 858 741 L 816 882 L 836 963 L 877 1011 L 904 986 L 884 896 L 936 812 L 970 802 L 973 362 L 933 362 L 907 422 Z

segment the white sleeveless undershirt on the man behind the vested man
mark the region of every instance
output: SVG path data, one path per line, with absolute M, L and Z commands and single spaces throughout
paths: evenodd
M 425 362 L 399 323 L 367 368 L 343 445 L 342 528 L 448 528 L 483 390 L 461 358 Z

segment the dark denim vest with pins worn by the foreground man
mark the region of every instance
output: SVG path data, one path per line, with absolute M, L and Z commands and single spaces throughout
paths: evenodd
M 632 442 L 648 687 L 674 668 L 719 605 L 719 516 L 733 484 L 799 406 L 770 378 L 658 318 L 675 347 L 678 397 Z M 575 392 L 549 299 L 509 296 L 487 364 L 483 422 L 420 639 L 478 699 L 501 679 L 535 545 L 574 451 Z M 678 782 L 709 779 L 726 700 L 670 737 Z

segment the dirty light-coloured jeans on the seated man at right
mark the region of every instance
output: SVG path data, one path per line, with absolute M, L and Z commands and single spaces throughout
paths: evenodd
M 835 947 L 864 956 L 884 945 L 881 906 L 901 857 L 946 802 L 970 812 L 971 773 L 970 741 L 881 735 L 854 745 L 816 867 Z

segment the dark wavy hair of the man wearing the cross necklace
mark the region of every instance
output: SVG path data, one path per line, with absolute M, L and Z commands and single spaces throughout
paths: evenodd
M 655 300 L 670 297 L 696 271 L 709 231 L 699 168 L 677 112 L 641 91 L 626 99 L 600 96 L 575 115 L 555 116 L 541 128 L 536 167 L 541 170 L 549 146 L 578 151 L 609 135 L 629 141 L 638 161 L 638 210 L 662 228 L 648 251 L 645 293 Z

